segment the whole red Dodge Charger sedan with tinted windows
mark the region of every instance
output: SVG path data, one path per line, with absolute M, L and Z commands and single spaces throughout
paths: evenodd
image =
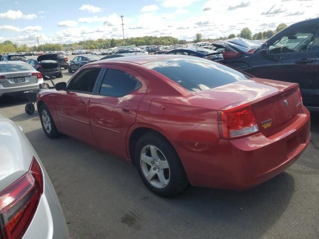
M 298 84 L 191 56 L 131 56 L 80 68 L 37 107 L 44 133 L 131 161 L 160 196 L 244 190 L 283 172 L 310 140 Z

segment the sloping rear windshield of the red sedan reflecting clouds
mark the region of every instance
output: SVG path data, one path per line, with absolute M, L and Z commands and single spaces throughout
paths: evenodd
M 195 57 L 160 60 L 144 65 L 192 92 L 250 79 L 248 75 L 230 67 Z

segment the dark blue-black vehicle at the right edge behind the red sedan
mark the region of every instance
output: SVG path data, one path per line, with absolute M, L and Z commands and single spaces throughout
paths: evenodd
M 304 105 L 319 111 L 318 29 L 319 18 L 292 24 L 251 55 L 222 62 L 256 77 L 298 83 Z

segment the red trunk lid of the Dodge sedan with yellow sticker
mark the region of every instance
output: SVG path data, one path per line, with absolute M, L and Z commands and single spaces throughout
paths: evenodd
M 216 110 L 252 104 L 259 131 L 265 136 L 291 124 L 301 112 L 302 107 L 298 84 L 258 78 L 237 81 L 195 93 L 195 95 L 206 99 L 219 99 L 225 103 L 233 102 Z M 204 106 L 205 104 L 202 104 L 202 107 Z

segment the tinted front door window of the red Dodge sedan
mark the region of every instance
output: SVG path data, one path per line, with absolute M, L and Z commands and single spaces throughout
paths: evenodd
M 90 68 L 81 71 L 69 84 L 69 91 L 93 92 L 93 87 L 101 68 Z

